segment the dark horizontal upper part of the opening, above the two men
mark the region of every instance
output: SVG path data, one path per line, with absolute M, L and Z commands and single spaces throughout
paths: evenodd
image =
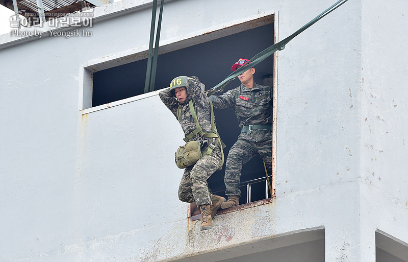
M 249 41 L 242 39 L 251 39 Z M 158 56 L 155 90 L 168 87 L 178 75 L 195 75 L 207 89 L 217 85 L 231 73 L 231 61 L 237 57 L 252 57 L 268 44 L 273 44 L 273 23 L 244 32 L 200 43 Z M 273 74 L 272 56 L 258 64 L 256 80 Z M 147 59 L 115 66 L 93 73 L 92 107 L 138 96 L 144 93 Z M 232 81 L 224 89 L 237 85 Z M 235 117 L 235 116 L 234 116 Z

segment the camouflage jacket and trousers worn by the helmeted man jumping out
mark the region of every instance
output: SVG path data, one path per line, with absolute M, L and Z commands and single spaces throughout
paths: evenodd
M 210 103 L 207 95 L 200 88 L 198 78 L 189 77 L 187 79 L 186 88 L 187 99 L 184 102 L 178 102 L 173 94 L 170 93 L 170 89 L 161 91 L 159 97 L 175 116 L 177 115 L 177 108 L 179 108 L 180 104 L 182 105 L 180 125 L 182 126 L 185 136 L 196 128 L 188 105 L 191 99 L 193 99 L 198 124 L 202 128 L 202 131 L 205 133 L 212 132 Z M 196 134 L 190 141 L 200 141 L 201 145 L 204 145 L 202 147 L 202 149 L 204 149 L 208 139 L 213 138 L 201 137 L 199 134 Z M 188 166 L 184 170 L 183 178 L 180 182 L 179 199 L 187 203 L 196 202 L 197 205 L 211 205 L 207 179 L 217 171 L 220 164 L 221 149 L 218 146 L 213 150 L 211 155 L 205 154 L 194 165 Z

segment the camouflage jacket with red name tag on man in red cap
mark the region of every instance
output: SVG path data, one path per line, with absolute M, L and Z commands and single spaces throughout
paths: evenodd
M 248 125 L 272 126 L 272 87 L 255 84 L 247 88 L 243 84 L 220 96 L 211 96 L 216 109 L 233 107 L 239 127 Z

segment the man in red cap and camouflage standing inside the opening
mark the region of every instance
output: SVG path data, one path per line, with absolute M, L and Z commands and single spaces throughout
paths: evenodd
M 240 66 L 248 66 L 247 62 L 241 58 L 231 69 L 235 71 Z M 255 68 L 248 66 L 248 70 L 238 76 L 242 83 L 239 87 L 210 97 L 214 108 L 234 108 L 241 128 L 241 134 L 226 159 L 224 183 L 228 201 L 223 202 L 221 208 L 239 205 L 242 165 L 254 155 L 264 160 L 269 174 L 272 174 L 272 88 L 256 84 L 254 73 Z

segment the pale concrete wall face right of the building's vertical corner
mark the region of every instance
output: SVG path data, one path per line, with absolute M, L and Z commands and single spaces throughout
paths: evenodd
M 362 3 L 362 229 L 383 230 L 406 245 L 408 54 L 403 46 L 408 40 L 408 5 Z M 367 254 L 374 252 L 373 239 L 372 234 L 362 239 Z

